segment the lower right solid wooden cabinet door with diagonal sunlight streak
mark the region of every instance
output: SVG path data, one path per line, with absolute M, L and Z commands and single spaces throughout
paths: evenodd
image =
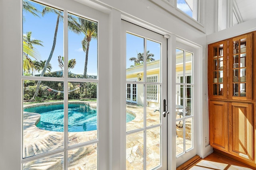
M 253 155 L 253 107 L 248 103 L 229 103 L 229 152 L 248 160 Z

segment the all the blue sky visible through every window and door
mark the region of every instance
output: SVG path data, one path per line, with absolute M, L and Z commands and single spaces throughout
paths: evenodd
M 39 11 L 42 11 L 44 6 L 31 2 Z M 177 6 L 183 9 L 190 15 L 191 11 L 184 0 L 178 0 Z M 190 12 L 190 13 L 189 13 Z M 34 45 L 34 48 L 40 53 L 42 61 L 48 59 L 50 51 L 52 49 L 54 31 L 56 27 L 57 15 L 54 13 L 48 13 L 45 16 L 36 17 L 28 12 L 24 12 L 23 21 L 23 35 L 28 31 L 32 31 L 32 39 L 38 39 L 43 41 L 44 47 Z M 192 13 L 191 13 L 192 15 Z M 76 17 L 77 18 L 77 17 Z M 75 74 L 83 74 L 85 53 L 82 50 L 81 41 L 84 38 L 84 34 L 75 34 L 72 31 L 68 31 L 68 59 L 76 59 L 76 66 L 70 69 L 70 72 Z M 58 56 L 64 56 L 63 49 L 63 21 L 60 20 L 58 25 L 58 34 L 56 47 L 50 63 L 52 64 L 52 71 L 61 70 L 58 66 Z M 130 61 L 131 57 L 137 57 L 138 53 L 144 52 L 144 40 L 141 37 L 135 35 L 126 34 L 126 68 L 134 65 L 134 61 Z M 154 59 L 160 59 L 160 44 L 154 41 L 147 40 L 147 51 L 154 54 Z M 66 55 L 65 55 L 66 56 Z M 125 56 L 124 56 L 125 57 Z M 34 60 L 34 59 L 32 59 Z M 97 40 L 92 39 L 90 42 L 90 49 L 88 55 L 88 75 L 97 75 Z M 36 73 L 38 74 L 38 73 Z

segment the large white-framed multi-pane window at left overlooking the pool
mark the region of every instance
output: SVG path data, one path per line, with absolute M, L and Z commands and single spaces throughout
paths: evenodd
M 98 22 L 23 0 L 22 167 L 97 169 Z

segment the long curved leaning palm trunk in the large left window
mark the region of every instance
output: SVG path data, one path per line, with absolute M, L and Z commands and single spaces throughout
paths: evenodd
M 52 50 L 51 50 L 51 53 L 44 65 L 44 68 L 40 74 L 40 76 L 44 76 L 44 73 L 46 72 L 46 69 L 48 67 L 48 64 L 50 63 L 51 59 L 52 59 L 52 54 L 54 52 L 54 49 L 55 49 L 55 45 L 56 45 L 56 38 L 57 38 L 57 33 L 58 33 L 58 25 L 59 25 L 59 21 L 60 21 L 60 14 L 58 14 L 58 17 L 57 17 L 57 21 L 56 21 L 56 27 L 55 27 L 55 33 L 54 33 L 54 39 L 53 39 L 53 44 L 52 44 Z M 40 88 L 40 84 L 41 84 L 41 80 L 39 80 L 37 82 L 37 85 L 36 85 L 36 91 L 34 93 L 34 96 L 32 97 L 31 100 L 34 100 L 37 96 L 38 96 L 38 92 L 39 92 L 39 88 Z

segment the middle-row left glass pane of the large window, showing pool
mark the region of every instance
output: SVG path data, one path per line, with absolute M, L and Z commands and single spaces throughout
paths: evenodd
M 63 82 L 42 81 L 31 102 L 36 84 L 23 81 L 23 158 L 63 148 Z

